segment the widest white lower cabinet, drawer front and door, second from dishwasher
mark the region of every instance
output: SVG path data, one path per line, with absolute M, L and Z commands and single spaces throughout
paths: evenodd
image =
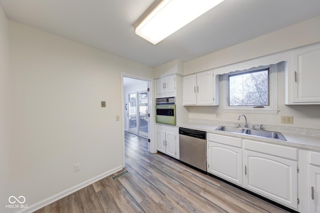
M 243 187 L 297 209 L 297 149 L 243 140 Z

